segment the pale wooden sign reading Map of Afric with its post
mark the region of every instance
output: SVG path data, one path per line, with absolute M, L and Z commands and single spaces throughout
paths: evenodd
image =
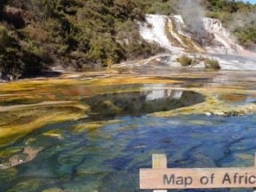
M 254 188 L 256 167 L 166 169 L 166 155 L 153 155 L 153 169 L 140 170 L 140 189 Z

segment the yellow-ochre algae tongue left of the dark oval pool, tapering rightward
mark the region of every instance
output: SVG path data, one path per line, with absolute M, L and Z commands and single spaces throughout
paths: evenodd
M 2 112 L 0 113 L 2 114 L 0 116 L 0 146 L 10 145 L 42 126 L 83 118 L 87 110 L 89 110 L 89 106 L 70 104 L 26 107 L 22 110 Z

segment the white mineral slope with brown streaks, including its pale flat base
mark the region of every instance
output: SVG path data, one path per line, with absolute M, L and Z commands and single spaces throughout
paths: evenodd
M 180 15 L 147 14 L 146 22 L 140 25 L 140 34 L 147 41 L 157 42 L 171 51 L 169 56 L 164 55 L 169 66 L 180 66 L 176 60 L 186 54 L 194 60 L 214 58 L 222 70 L 256 70 L 256 54 L 239 46 L 218 19 L 203 18 L 202 21 L 207 35 L 200 40 L 201 45 L 194 41 L 194 34 L 186 28 Z M 205 64 L 198 62 L 189 67 L 205 67 Z

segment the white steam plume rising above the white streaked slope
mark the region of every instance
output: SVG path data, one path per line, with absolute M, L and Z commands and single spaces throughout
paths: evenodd
M 190 32 L 198 38 L 206 38 L 206 30 L 202 22 L 202 18 L 205 16 L 202 0 L 180 0 L 175 10 L 182 15 Z

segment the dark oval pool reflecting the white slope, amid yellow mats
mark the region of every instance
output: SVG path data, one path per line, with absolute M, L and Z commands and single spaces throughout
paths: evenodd
M 193 91 L 150 90 L 115 94 L 98 94 L 85 98 L 90 115 L 140 116 L 158 111 L 174 110 L 203 102 L 205 96 Z

